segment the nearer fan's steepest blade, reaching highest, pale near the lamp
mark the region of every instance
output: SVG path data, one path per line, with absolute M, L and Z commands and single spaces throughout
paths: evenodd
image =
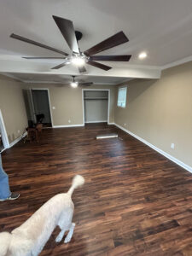
M 53 15 L 56 25 L 59 27 L 63 38 L 66 39 L 66 42 L 69 48 L 79 54 L 79 45 L 77 38 L 75 36 L 75 31 L 73 27 L 73 22 L 71 20 L 63 19 Z

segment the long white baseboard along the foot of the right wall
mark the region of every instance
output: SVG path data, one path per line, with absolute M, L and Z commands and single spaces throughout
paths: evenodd
M 168 158 L 169 160 L 172 160 L 174 163 L 176 163 L 178 166 L 183 167 L 185 170 L 192 172 L 192 167 L 186 165 L 185 163 L 183 163 L 181 160 L 177 160 L 177 158 L 175 158 L 174 156 L 172 156 L 171 154 L 167 154 L 165 151 L 163 151 L 160 148 L 155 147 L 153 144 L 148 143 L 146 140 L 144 140 L 142 137 L 138 137 L 136 134 L 132 133 L 129 130 L 126 130 L 124 127 L 114 124 L 116 125 L 119 129 L 125 131 L 126 133 L 130 134 L 132 137 L 137 138 L 137 140 L 141 141 L 142 143 L 145 143 L 146 145 L 148 145 L 148 147 L 153 148 L 155 151 L 157 151 L 158 153 L 166 156 L 166 158 Z

